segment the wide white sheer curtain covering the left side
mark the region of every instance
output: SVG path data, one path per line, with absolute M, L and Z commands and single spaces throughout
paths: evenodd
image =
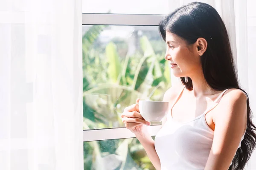
M 0 170 L 82 170 L 81 0 L 0 1 Z

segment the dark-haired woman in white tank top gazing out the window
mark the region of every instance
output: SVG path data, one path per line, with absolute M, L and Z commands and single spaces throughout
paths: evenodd
M 189 3 L 160 22 L 165 59 L 183 85 L 164 94 L 172 103 L 155 141 L 138 102 L 122 120 L 157 170 L 242 170 L 256 134 L 247 94 L 239 87 L 221 17 L 212 6 Z

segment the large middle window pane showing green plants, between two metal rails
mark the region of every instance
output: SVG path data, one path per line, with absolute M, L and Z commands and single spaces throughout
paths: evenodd
M 83 26 L 84 130 L 124 127 L 137 98 L 161 101 L 171 85 L 165 51 L 157 26 Z

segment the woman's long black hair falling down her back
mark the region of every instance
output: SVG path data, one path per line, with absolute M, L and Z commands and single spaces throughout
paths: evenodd
M 252 122 L 252 113 L 247 93 L 239 86 L 233 54 L 227 29 L 218 12 L 209 4 L 193 2 L 177 8 L 160 22 L 159 31 L 163 40 L 166 31 L 176 34 L 188 44 L 202 37 L 207 41 L 207 50 L 201 57 L 204 78 L 216 91 L 237 88 L 247 96 L 247 129 L 241 147 L 233 158 L 229 170 L 242 170 L 256 147 L 256 127 Z M 187 89 L 193 84 L 189 77 L 180 78 Z

